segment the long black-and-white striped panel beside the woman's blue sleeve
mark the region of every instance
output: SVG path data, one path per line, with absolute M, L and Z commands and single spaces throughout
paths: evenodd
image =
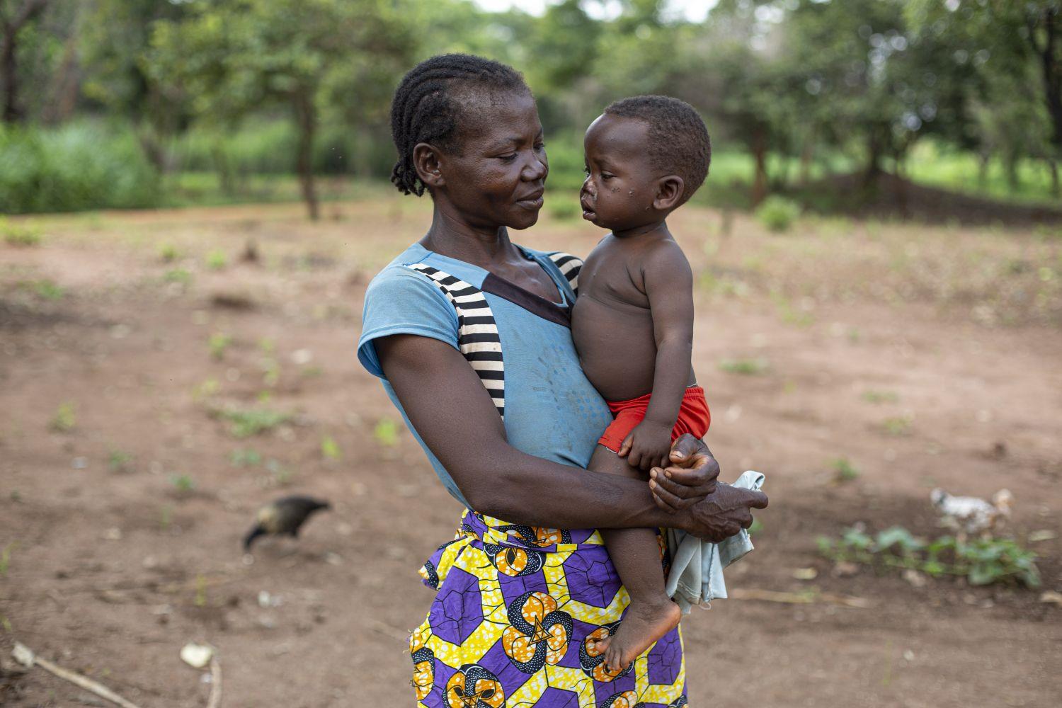
M 424 263 L 408 267 L 431 278 L 458 313 L 458 349 L 468 361 L 491 394 L 498 415 L 506 418 L 506 366 L 501 358 L 501 338 L 494 312 L 478 288 L 449 273 Z

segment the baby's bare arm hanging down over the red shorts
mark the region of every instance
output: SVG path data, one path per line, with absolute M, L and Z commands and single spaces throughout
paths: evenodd
M 663 467 L 671 446 L 671 429 L 679 417 L 689 382 L 693 347 L 693 274 L 685 254 L 673 241 L 663 241 L 643 265 L 646 295 L 653 317 L 656 363 L 653 392 L 645 420 L 623 441 L 620 455 L 632 467 Z

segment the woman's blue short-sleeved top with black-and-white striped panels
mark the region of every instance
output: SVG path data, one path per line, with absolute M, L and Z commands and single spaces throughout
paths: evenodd
M 377 338 L 430 336 L 465 353 L 504 414 L 509 444 L 527 454 L 585 467 L 612 422 L 609 407 L 583 374 L 571 341 L 576 299 L 571 286 L 550 254 L 517 247 L 552 278 L 556 301 L 419 244 L 380 271 L 365 292 L 358 360 L 381 379 L 439 479 L 465 506 L 469 504 L 452 477 L 424 444 L 383 376 L 373 346 Z M 475 324 L 480 322 L 489 324 Z M 477 363 L 484 358 L 497 362 Z

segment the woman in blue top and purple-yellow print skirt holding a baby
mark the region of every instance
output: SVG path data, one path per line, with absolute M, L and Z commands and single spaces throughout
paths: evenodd
M 549 171 L 517 72 L 432 57 L 399 85 L 392 133 L 392 180 L 428 191 L 434 213 L 370 284 L 358 356 L 469 510 L 421 571 L 438 593 L 410 640 L 418 705 L 685 705 L 678 629 L 623 672 L 596 651 L 628 598 L 594 529 L 718 541 L 766 497 L 717 490 L 718 466 L 688 436 L 648 485 L 581 469 L 611 416 L 571 343 L 580 261 L 509 240 L 537 221 Z

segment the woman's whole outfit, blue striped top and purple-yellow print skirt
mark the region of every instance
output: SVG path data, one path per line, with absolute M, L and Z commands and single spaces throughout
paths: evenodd
M 374 339 L 408 332 L 448 342 L 480 374 L 503 416 L 510 445 L 584 467 L 611 415 L 582 374 L 571 343 L 579 262 L 564 254 L 523 252 L 553 279 L 559 301 L 412 246 L 370 286 L 359 359 L 383 379 Z M 463 502 L 449 472 L 426 447 L 425 452 L 446 488 Z M 418 706 L 686 705 L 678 629 L 626 671 L 604 668 L 593 640 L 616 632 L 630 598 L 597 531 L 516 525 L 466 510 L 455 538 L 425 562 L 421 575 L 436 594 L 410 637 Z

